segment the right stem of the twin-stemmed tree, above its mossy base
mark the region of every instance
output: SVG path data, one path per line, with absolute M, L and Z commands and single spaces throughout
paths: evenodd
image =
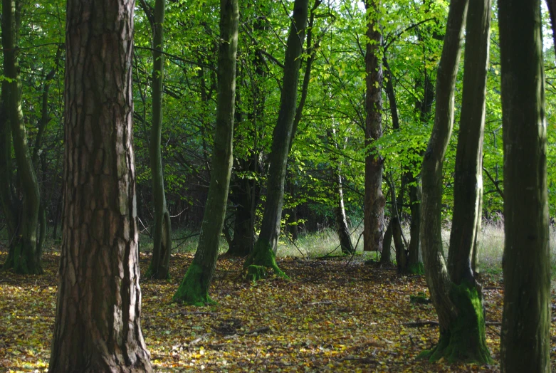
M 469 5 L 463 95 L 453 179 L 453 216 L 448 272 L 453 283 L 474 283 L 473 253 L 481 228 L 483 196 L 483 133 L 486 71 L 491 28 L 491 1 Z M 476 257 L 476 256 L 475 256 Z

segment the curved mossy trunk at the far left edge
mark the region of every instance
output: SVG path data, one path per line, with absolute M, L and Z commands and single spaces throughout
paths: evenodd
M 4 110 L 11 127 L 14 142 L 18 177 L 21 184 L 21 213 L 14 240 L 9 248 L 4 268 L 12 268 L 16 273 L 42 273 L 41 256 L 37 248 L 38 210 L 41 199 L 38 181 L 31 162 L 27 145 L 27 134 L 21 112 L 21 78 L 17 55 L 16 1 L 2 0 L 2 47 L 4 49 L 4 75 L 11 81 L 4 82 L 6 90 Z M 6 133 L 6 132 L 4 132 Z

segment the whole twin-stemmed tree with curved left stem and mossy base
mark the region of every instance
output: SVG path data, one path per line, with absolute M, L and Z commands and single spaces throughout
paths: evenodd
M 477 219 L 480 219 L 477 216 L 480 216 L 478 206 L 482 189 L 480 159 L 490 8 L 489 0 L 451 1 L 436 80 L 436 114 L 423 161 L 421 206 L 425 275 L 440 323 L 438 344 L 424 354 L 433 361 L 443 357 L 448 361 L 491 361 L 486 347 L 481 285 L 476 283 L 471 270 Z M 456 210 L 470 221 L 452 233 L 454 247 L 450 248 L 449 270 L 446 270 L 441 239 L 442 172 L 453 125 L 454 85 L 466 16 L 466 62 L 459 139 L 464 143 L 458 143 L 456 170 L 459 174 L 455 178 L 462 183 L 457 190 Z

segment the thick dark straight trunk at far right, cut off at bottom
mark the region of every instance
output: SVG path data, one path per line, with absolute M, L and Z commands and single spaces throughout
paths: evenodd
M 540 1 L 499 1 L 504 139 L 502 372 L 550 372 L 547 129 Z

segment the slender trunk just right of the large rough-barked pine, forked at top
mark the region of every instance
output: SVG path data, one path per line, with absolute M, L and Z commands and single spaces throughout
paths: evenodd
M 170 253 L 172 251 L 172 225 L 164 194 L 162 172 L 162 90 L 164 87 L 164 0 L 154 1 L 154 11 L 146 0 L 140 0 L 152 29 L 152 123 L 149 143 L 152 177 L 152 204 L 154 226 L 152 229 L 152 259 L 147 276 L 169 278 Z

